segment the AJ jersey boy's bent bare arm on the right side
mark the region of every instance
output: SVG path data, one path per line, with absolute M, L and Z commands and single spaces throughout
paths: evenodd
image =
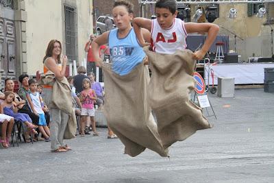
M 195 60 L 201 60 L 203 56 L 206 55 L 206 52 L 210 49 L 212 43 L 214 42 L 216 36 L 219 32 L 219 26 L 213 23 L 185 23 L 186 32 L 207 32 L 208 36 L 206 38 L 203 47 L 200 50 L 195 51 L 193 58 Z

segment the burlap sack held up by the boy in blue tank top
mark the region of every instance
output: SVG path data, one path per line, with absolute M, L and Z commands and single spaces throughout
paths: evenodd
M 139 64 L 127 75 L 112 72 L 111 64 L 102 66 L 105 84 L 103 112 L 108 125 L 125 145 L 125 154 L 137 156 L 147 147 L 168 156 L 147 104 L 147 66 Z

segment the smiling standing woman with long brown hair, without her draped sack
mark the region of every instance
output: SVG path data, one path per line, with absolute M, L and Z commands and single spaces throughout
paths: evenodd
M 55 74 L 55 80 L 63 80 L 66 71 L 66 61 L 68 58 L 62 56 L 62 45 L 59 40 L 51 40 L 47 46 L 46 55 L 43 59 L 44 73 L 51 71 Z M 62 61 L 61 61 L 62 60 Z M 71 150 L 71 147 L 64 145 L 64 131 L 69 115 L 62 112 L 60 109 L 51 105 L 52 102 L 52 86 L 44 85 L 44 97 L 46 103 L 49 104 L 49 112 L 51 114 L 50 132 L 51 132 L 51 151 L 66 152 Z

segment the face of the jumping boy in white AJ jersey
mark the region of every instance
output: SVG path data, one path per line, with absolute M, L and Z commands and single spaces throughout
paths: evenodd
M 177 11 L 172 14 L 167 8 L 156 8 L 155 14 L 157 16 L 157 21 L 162 29 L 169 29 L 173 25 L 173 21 L 177 16 Z

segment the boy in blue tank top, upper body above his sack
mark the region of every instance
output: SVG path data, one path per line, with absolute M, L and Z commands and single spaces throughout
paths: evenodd
M 134 18 L 133 10 L 127 4 L 129 4 L 127 1 L 118 1 L 114 7 L 116 29 L 103 33 L 92 42 L 92 52 L 95 53 L 97 66 L 101 67 L 102 63 L 99 57 L 99 47 L 108 44 L 112 70 L 119 75 L 126 75 L 146 57 L 130 23 Z M 141 34 L 146 42 L 150 41 L 149 31 L 142 29 Z

